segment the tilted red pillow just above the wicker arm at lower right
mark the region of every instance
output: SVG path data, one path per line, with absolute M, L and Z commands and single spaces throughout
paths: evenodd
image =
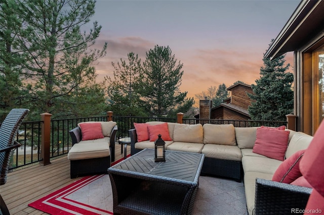
M 290 184 L 302 176 L 299 170 L 299 162 L 305 150 L 300 150 L 284 160 L 274 172 L 272 181 Z

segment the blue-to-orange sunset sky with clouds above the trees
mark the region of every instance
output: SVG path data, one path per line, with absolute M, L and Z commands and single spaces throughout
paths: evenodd
M 222 83 L 254 84 L 268 44 L 299 3 L 98 0 L 91 20 L 102 26 L 96 47 L 108 42 L 107 55 L 96 65 L 98 78 L 112 76 L 111 62 L 126 60 L 129 52 L 145 61 L 146 51 L 159 45 L 169 46 L 183 63 L 180 89 L 188 97 Z M 288 53 L 287 63 L 292 59 Z

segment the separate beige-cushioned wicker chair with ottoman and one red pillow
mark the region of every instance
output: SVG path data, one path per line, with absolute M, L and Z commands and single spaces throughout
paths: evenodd
M 83 126 L 84 125 L 84 126 Z M 70 130 L 70 177 L 106 174 L 115 159 L 116 122 L 85 122 Z M 99 135 L 99 136 L 98 136 Z

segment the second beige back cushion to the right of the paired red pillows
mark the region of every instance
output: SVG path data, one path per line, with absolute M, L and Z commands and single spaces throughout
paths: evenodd
M 232 124 L 205 124 L 203 128 L 205 144 L 236 145 L 235 129 Z

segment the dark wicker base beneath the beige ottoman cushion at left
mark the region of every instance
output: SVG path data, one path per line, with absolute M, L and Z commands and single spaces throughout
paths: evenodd
M 82 175 L 107 174 L 109 167 L 110 156 L 70 160 L 70 177 L 73 179 Z

